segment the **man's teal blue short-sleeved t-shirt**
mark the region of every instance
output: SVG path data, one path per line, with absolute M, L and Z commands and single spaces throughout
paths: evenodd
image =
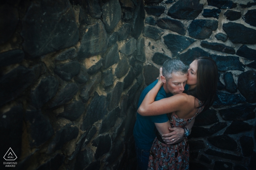
M 140 95 L 138 107 L 142 103 L 143 99 L 147 95 L 147 93 L 157 84 L 158 80 L 155 80 L 153 83 L 148 85 Z M 187 85 L 186 85 L 187 86 Z M 188 89 L 188 86 L 185 86 L 185 90 Z M 155 97 L 155 101 L 161 100 L 163 98 L 168 98 L 170 96 L 173 96 L 172 93 L 166 93 L 163 86 L 158 91 L 157 96 Z M 157 116 L 141 116 L 137 112 L 137 119 L 135 122 L 135 126 L 133 129 L 133 136 L 135 139 L 135 144 L 139 149 L 143 150 L 150 150 L 151 146 L 154 142 L 154 139 L 156 137 L 155 135 L 155 123 L 164 123 L 167 122 L 169 119 L 166 114 L 157 115 Z

